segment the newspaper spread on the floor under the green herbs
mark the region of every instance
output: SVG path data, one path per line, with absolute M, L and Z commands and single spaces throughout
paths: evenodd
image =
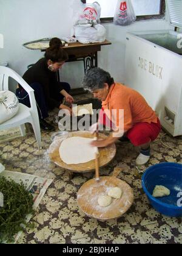
M 0 176 L 4 176 L 6 179 L 12 179 L 16 183 L 24 183 L 25 188 L 29 190 L 30 193 L 33 195 L 33 210 L 36 210 L 47 188 L 53 181 L 52 179 L 45 179 L 42 177 L 13 171 L 3 171 L 1 172 Z M 27 215 L 25 219 L 26 222 L 29 222 L 31 218 L 32 215 Z M 18 241 L 21 234 L 22 231 L 18 232 L 18 234 L 15 236 L 15 243 Z

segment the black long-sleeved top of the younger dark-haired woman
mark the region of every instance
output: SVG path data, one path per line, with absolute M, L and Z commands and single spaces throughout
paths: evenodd
M 50 71 L 45 58 L 38 60 L 31 68 L 27 69 L 22 78 L 31 85 L 35 82 L 41 84 L 44 91 L 45 102 L 50 108 L 58 107 L 60 102 L 50 97 L 50 90 L 54 90 L 57 86 L 60 88 L 60 83 L 56 78 L 56 72 Z M 57 84 L 57 86 L 56 86 Z M 63 88 L 60 88 L 60 91 Z

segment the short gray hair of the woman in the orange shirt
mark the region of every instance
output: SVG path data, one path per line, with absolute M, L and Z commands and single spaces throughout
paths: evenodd
M 110 87 L 114 80 L 107 71 L 101 68 L 90 68 L 83 79 L 83 87 L 89 91 L 102 89 L 105 83 Z

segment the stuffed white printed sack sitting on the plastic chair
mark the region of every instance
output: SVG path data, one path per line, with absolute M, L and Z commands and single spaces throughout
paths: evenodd
M 19 108 L 18 98 L 12 91 L 0 91 L 0 124 L 16 115 Z

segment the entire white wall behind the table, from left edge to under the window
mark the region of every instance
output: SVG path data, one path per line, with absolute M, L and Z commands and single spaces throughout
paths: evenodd
M 0 63 L 7 61 L 10 68 L 21 76 L 27 65 L 35 63 L 43 55 L 40 51 L 24 48 L 22 44 L 45 37 L 64 37 L 73 25 L 72 4 L 79 0 L 0 0 L 0 34 L 4 36 L 4 48 L 0 48 Z M 104 24 L 110 46 L 102 46 L 98 53 L 98 65 L 106 69 L 116 81 L 124 80 L 126 32 L 169 29 L 169 21 L 136 21 L 121 27 Z M 81 87 L 83 63 L 66 63 L 61 79 L 70 82 L 72 88 Z

